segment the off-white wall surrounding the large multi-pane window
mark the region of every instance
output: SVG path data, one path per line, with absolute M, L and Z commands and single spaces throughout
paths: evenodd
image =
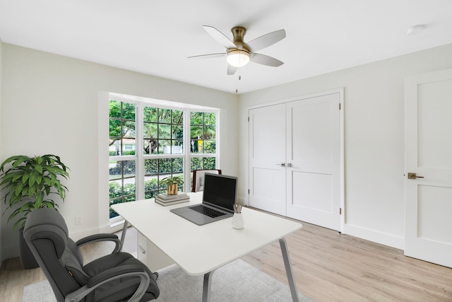
M 220 126 L 227 124 L 220 134 L 220 168 L 225 174 L 238 174 L 237 95 L 6 43 L 1 70 L 0 161 L 17 154 L 61 156 L 71 168 L 71 178 L 60 209 L 74 239 L 108 224 L 108 200 L 98 200 L 98 181 L 108 169 L 108 161 L 105 170 L 98 168 L 99 108 L 108 108 L 99 103 L 102 92 L 220 108 Z M 102 203 L 105 209 L 99 211 Z M 81 225 L 75 225 L 76 215 L 83 216 Z M 0 218 L 3 259 L 17 255 L 18 236 L 6 217 Z

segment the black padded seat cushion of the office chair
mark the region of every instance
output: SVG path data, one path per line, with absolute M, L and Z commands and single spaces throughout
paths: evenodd
M 141 298 L 141 301 L 150 301 L 157 298 L 160 290 L 155 281 L 155 275 L 146 267 L 143 262 L 135 259 L 132 255 L 126 252 L 116 252 L 111 255 L 100 257 L 93 262 L 88 263 L 83 267 L 85 274 L 94 277 L 100 272 L 107 269 L 119 267 L 121 265 L 141 265 L 150 277 L 150 283 L 146 294 Z M 136 284 L 136 277 L 128 277 L 117 279 L 107 284 L 103 284 L 95 289 L 93 294 L 86 297 L 86 301 L 127 301 L 128 298 L 138 288 Z

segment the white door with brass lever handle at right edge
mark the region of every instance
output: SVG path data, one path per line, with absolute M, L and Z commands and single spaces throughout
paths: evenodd
M 447 267 L 452 267 L 451 113 L 452 69 L 405 79 L 405 255 Z

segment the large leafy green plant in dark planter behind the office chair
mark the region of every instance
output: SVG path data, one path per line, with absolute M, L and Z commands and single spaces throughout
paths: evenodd
M 11 167 L 6 170 L 7 165 Z M 64 202 L 67 187 L 61 184 L 61 178 L 69 178 L 68 170 L 59 156 L 53 154 L 11 156 L 0 165 L 0 188 L 5 191 L 3 199 L 7 206 L 3 214 L 12 211 L 8 223 L 16 219 L 13 228 L 20 230 L 19 254 L 24 269 L 37 267 L 22 236 L 27 215 L 34 209 L 57 209 L 58 204 L 52 199 L 55 195 Z

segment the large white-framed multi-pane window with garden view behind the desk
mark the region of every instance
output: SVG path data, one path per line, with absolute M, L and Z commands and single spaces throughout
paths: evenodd
M 217 112 L 109 100 L 109 204 L 166 192 L 168 176 L 184 175 L 179 190 L 191 190 L 191 171 L 216 168 Z

